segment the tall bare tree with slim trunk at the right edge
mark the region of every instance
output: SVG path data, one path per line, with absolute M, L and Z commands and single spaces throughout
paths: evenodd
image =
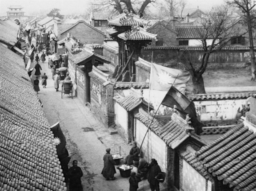
M 240 9 L 242 14 L 245 17 L 245 21 L 248 27 L 249 43 L 250 43 L 250 54 L 251 54 L 251 70 L 252 70 L 252 81 L 255 81 L 255 54 L 253 46 L 253 27 L 256 26 L 256 15 L 255 10 L 253 9 L 256 5 L 255 0 L 231 0 L 227 1 L 228 4 L 233 5 Z

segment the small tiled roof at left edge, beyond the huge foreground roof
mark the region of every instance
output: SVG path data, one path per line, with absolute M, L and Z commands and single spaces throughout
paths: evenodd
M 13 27 L 4 21 L 0 20 L 0 40 L 6 44 L 14 46 L 17 42 L 18 30 L 15 31 Z

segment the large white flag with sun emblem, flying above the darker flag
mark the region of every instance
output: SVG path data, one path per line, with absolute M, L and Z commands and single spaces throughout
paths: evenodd
M 175 80 L 176 77 L 177 79 Z M 175 80 L 173 86 L 182 93 L 185 93 L 189 78 L 189 71 L 181 71 L 152 63 L 150 71 L 150 90 L 168 91 Z

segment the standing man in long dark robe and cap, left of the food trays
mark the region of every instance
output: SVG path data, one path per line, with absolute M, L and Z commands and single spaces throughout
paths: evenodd
M 106 180 L 115 180 L 114 174 L 116 174 L 115 161 L 110 154 L 110 148 L 106 149 L 106 154 L 103 156 L 104 167 L 101 174 L 106 178 Z

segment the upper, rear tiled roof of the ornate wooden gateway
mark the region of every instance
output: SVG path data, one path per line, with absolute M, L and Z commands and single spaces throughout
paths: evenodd
M 149 21 L 140 19 L 139 16 L 130 14 L 121 14 L 117 18 L 109 20 L 109 25 L 113 26 L 144 26 Z

